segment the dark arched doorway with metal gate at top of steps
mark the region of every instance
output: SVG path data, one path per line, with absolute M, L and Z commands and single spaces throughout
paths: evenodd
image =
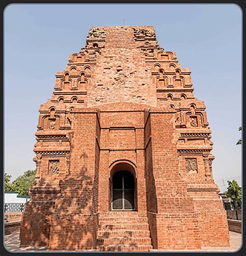
M 112 210 L 135 210 L 135 182 L 128 171 L 118 171 L 112 178 Z

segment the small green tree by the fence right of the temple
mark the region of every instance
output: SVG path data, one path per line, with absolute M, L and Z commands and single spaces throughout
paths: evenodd
M 242 204 L 242 194 L 241 194 L 241 187 L 238 185 L 236 180 L 227 181 L 228 187 L 227 191 L 225 191 L 226 197 L 230 198 L 233 202 L 234 210 L 241 210 Z

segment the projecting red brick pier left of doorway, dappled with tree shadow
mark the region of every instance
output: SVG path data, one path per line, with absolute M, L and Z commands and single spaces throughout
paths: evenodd
M 61 197 L 56 200 L 52 215 L 50 250 L 84 250 L 95 246 L 99 119 L 94 110 L 78 110 L 71 119 L 74 134 L 70 141 L 70 175 L 60 182 Z

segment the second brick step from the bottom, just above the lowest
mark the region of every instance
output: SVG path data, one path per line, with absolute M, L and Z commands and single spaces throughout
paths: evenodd
M 97 245 L 151 245 L 151 238 L 149 237 L 117 237 L 117 238 L 98 238 Z

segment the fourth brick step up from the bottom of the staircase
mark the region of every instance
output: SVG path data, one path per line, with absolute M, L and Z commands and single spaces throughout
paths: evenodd
M 100 222 L 99 222 L 100 223 Z M 108 223 L 100 223 L 99 224 L 99 230 L 100 229 L 109 229 L 109 230 L 115 230 L 115 229 L 139 229 L 139 230 L 148 230 L 148 223 L 113 223 L 113 224 L 108 224 Z

